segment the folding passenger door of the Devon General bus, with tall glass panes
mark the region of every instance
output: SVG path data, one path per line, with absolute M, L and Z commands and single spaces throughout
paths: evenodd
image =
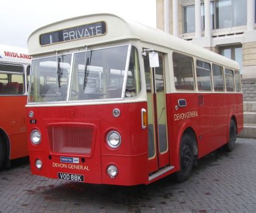
M 158 53 L 158 58 L 159 67 L 151 68 L 149 55 L 144 56 L 148 99 L 149 173 L 169 164 L 164 55 Z

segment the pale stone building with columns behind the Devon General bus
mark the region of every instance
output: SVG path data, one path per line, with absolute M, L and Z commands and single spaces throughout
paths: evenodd
M 156 0 L 157 28 L 238 61 L 256 101 L 255 0 Z

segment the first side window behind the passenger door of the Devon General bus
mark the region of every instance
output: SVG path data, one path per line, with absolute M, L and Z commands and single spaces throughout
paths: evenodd
M 172 60 L 175 88 L 178 90 L 194 90 L 193 58 L 174 52 Z

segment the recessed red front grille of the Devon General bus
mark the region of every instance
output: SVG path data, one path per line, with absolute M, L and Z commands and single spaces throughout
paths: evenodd
M 51 151 L 55 153 L 91 153 L 93 127 L 48 127 Z

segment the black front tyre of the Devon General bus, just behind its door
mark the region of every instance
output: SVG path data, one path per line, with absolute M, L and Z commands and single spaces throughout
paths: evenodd
M 180 144 L 180 170 L 176 172 L 176 180 L 183 182 L 191 175 L 194 163 L 193 138 L 189 134 L 182 136 Z

